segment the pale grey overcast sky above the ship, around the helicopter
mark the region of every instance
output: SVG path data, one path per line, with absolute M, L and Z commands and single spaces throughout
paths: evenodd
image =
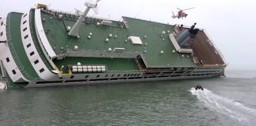
M 74 8 L 83 12 L 85 1 L 2 1 L 0 17 L 8 12 L 28 12 L 37 3 L 51 4 L 50 8 L 74 12 Z M 217 47 L 230 63 L 228 68 L 249 68 L 256 70 L 256 1 L 255 0 L 102 0 L 99 2 L 98 17 L 110 17 L 119 20 L 121 16 L 135 17 L 169 24 L 193 25 L 205 29 Z M 172 19 L 172 11 L 186 9 L 188 17 Z M 177 11 L 175 12 L 177 13 Z M 90 15 L 93 15 L 90 10 Z

